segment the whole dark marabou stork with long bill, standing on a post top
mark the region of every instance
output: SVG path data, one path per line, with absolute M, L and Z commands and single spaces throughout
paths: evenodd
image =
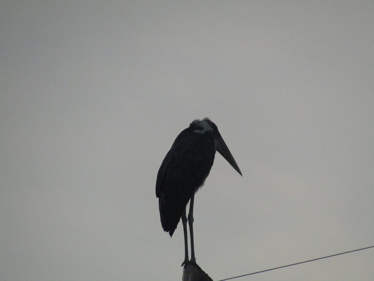
M 182 218 L 184 232 L 184 262 L 195 263 L 193 246 L 193 200 L 196 191 L 202 187 L 209 175 L 215 152 L 220 154 L 240 174 L 234 157 L 218 132 L 217 126 L 209 120 L 194 120 L 175 139 L 166 154 L 156 181 L 156 197 L 159 198 L 160 219 L 163 230 L 172 236 Z M 190 201 L 188 220 L 186 206 Z M 190 227 L 191 260 L 188 261 L 187 221 Z

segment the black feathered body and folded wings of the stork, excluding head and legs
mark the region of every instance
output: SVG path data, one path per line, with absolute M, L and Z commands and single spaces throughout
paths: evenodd
M 157 174 L 163 230 L 173 235 L 188 201 L 209 175 L 214 161 L 214 138 L 183 130 L 162 161 Z

